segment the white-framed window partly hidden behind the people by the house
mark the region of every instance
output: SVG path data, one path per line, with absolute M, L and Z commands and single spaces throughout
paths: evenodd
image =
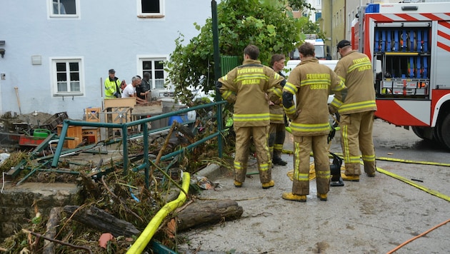
M 142 63 L 142 76 L 144 72 L 150 73 L 150 86 L 152 89 L 163 89 L 164 88 L 164 61 L 165 57 L 154 58 L 154 59 L 140 59 Z

